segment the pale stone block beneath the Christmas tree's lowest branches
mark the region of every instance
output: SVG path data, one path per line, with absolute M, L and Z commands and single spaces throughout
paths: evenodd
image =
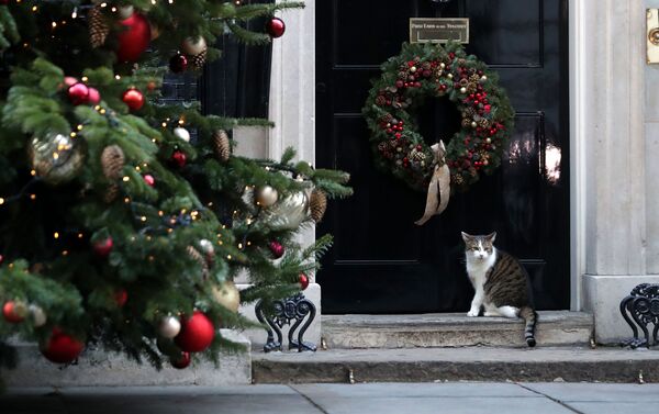
M 9 387 L 139 387 L 139 385 L 230 385 L 252 383 L 249 340 L 242 334 L 221 329 L 221 335 L 243 344 L 247 351 L 221 354 L 219 367 L 203 361 L 187 369 L 165 365 L 157 371 L 148 362 L 142 365 L 123 355 L 86 350 L 77 365 L 63 367 L 46 360 L 36 345 L 19 344 L 19 367 L 2 370 L 0 377 Z

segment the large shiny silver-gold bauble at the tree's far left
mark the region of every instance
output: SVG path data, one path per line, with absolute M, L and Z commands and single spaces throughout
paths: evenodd
M 82 143 L 68 135 L 49 134 L 32 138 L 30 159 L 36 176 L 51 184 L 71 180 L 85 164 Z

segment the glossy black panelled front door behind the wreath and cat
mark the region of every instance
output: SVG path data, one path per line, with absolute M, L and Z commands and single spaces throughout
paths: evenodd
M 325 313 L 467 311 L 460 231 L 496 231 L 527 268 L 538 309 L 568 309 L 569 125 L 567 0 L 325 0 L 316 2 L 316 161 L 351 174 L 355 195 L 332 203 L 319 234 L 335 247 L 317 276 Z M 369 79 L 407 41 L 409 18 L 470 19 L 469 53 L 501 76 L 516 110 L 502 167 L 423 227 L 425 194 L 375 169 L 361 118 Z M 432 102 L 428 142 L 459 114 Z

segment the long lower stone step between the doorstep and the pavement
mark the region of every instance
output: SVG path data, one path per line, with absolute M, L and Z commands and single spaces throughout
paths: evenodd
M 659 350 L 622 348 L 333 349 L 253 355 L 255 383 L 659 381 Z

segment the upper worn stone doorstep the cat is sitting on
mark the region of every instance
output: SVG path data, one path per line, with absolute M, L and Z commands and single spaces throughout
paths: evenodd
M 538 345 L 590 343 L 592 315 L 569 311 L 538 314 Z M 323 315 L 322 336 L 330 349 L 526 346 L 523 320 L 467 317 L 463 313 Z

